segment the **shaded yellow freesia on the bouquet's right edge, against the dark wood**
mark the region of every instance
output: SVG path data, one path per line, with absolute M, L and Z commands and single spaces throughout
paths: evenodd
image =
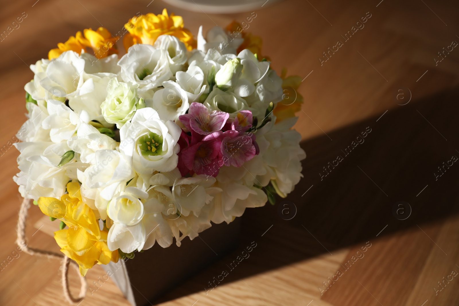
M 286 74 L 287 70 L 283 69 L 280 77 L 283 79 L 284 95 L 282 95 L 282 101 L 277 103 L 273 111 L 274 116 L 276 116 L 276 123 L 295 117 L 295 113 L 301 110 L 301 105 L 304 102 L 303 96 L 297 91 L 301 84 L 301 78 L 297 75 L 286 77 Z

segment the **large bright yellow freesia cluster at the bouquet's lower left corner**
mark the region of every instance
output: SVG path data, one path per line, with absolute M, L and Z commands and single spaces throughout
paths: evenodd
M 68 194 L 56 198 L 40 197 L 38 205 L 47 216 L 60 219 L 69 228 L 54 233 L 54 239 L 62 253 L 76 261 L 81 275 L 85 275 L 95 263 L 118 262 L 118 250 L 111 251 L 107 246 L 108 229 L 99 228 L 94 211 L 81 198 L 80 185 L 67 184 Z

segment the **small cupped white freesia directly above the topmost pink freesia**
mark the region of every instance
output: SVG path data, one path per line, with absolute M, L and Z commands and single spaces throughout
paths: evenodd
M 188 103 L 199 100 L 207 86 L 204 85 L 204 72 L 198 66 L 190 66 L 186 72 L 178 71 L 175 74 L 177 83 L 185 90 L 188 96 Z

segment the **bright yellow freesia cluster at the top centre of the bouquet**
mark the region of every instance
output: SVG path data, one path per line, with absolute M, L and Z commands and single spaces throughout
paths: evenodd
M 166 9 L 162 14 L 148 13 L 140 17 L 133 17 L 124 25 L 129 33 L 124 35 L 123 45 L 126 52 L 135 44 L 153 45 L 160 35 L 171 35 L 183 42 L 188 50 L 196 48 L 196 40 L 193 34 L 184 28 L 183 18 L 172 13 L 168 15 Z

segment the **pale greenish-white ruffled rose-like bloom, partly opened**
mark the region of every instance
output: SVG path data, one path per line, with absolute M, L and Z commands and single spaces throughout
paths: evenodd
M 124 123 L 131 120 L 137 108 L 144 107 L 143 99 L 137 95 L 138 84 L 118 82 L 112 78 L 108 82 L 107 96 L 101 105 L 102 115 L 106 122 L 116 123 L 121 128 Z

